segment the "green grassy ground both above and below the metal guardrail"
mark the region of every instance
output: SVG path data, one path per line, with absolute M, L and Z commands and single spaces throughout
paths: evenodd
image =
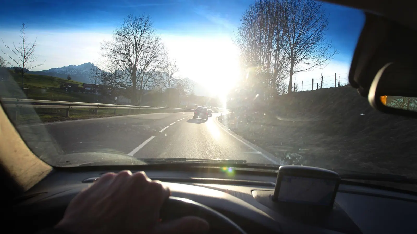
M 28 96 L 24 98 L 38 100 L 55 100 L 67 102 L 94 102 L 96 95 L 81 92 L 68 92 L 60 89 L 61 83 L 72 83 L 78 86 L 81 82 L 51 77 L 47 75 L 25 74 L 23 86 L 28 88 Z M 0 69 L 0 97 L 22 97 L 22 77 L 9 70 Z M 98 102 L 103 102 L 98 96 Z M 7 111 L 12 110 L 8 109 Z M 14 112 L 8 112 L 15 124 L 32 124 L 39 122 L 60 121 L 68 119 L 84 119 L 115 115 L 114 110 L 100 110 L 98 115 L 93 115 L 89 109 L 72 109 L 70 117 L 65 117 L 66 110 L 60 108 L 35 108 L 35 113 L 27 109 L 19 109 L 18 117 L 13 117 Z M 126 115 L 127 110 L 118 110 L 116 115 Z

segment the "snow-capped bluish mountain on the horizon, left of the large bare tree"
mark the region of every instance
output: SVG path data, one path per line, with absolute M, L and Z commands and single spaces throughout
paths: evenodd
M 94 66 L 91 62 L 87 62 L 81 65 L 68 65 L 64 67 L 51 68 L 45 71 L 30 72 L 38 75 L 50 75 L 53 77 L 59 77 L 66 79 L 68 75 L 78 82 L 91 83 L 90 73 L 91 68 Z

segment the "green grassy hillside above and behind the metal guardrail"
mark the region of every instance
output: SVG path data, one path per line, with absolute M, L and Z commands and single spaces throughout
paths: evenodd
M 0 97 L 21 97 L 21 75 L 9 70 L 2 70 L 0 76 L 2 78 L 0 81 Z M 60 84 L 63 82 L 83 85 L 81 82 L 52 76 L 25 74 L 23 86 L 29 89 L 27 97 L 29 99 L 94 102 L 95 95 L 67 92 L 60 89 Z

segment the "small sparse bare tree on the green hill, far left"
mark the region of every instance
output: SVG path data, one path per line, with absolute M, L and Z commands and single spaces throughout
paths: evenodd
M 6 48 L 8 48 L 10 50 L 10 53 L 6 53 L 3 50 L 1 50 L 5 55 L 7 55 L 7 57 L 9 57 L 10 62 L 8 62 L 8 64 L 10 64 L 11 66 L 16 67 L 17 71 L 22 74 L 22 88 L 23 88 L 23 81 L 24 81 L 24 77 L 25 77 L 25 73 L 28 72 L 30 69 L 33 69 L 35 67 L 38 67 L 40 65 L 43 65 L 45 63 L 45 61 L 43 61 L 43 63 L 40 64 L 32 64 L 33 62 L 35 62 L 39 55 L 35 55 L 35 48 L 36 48 L 36 39 L 35 42 L 31 43 L 28 42 L 28 38 L 25 35 L 25 28 L 27 28 L 25 26 L 25 23 L 22 23 L 22 26 L 20 27 L 20 38 L 22 39 L 21 42 L 19 42 L 19 45 L 15 45 L 15 43 L 13 42 L 13 48 L 6 45 L 2 39 L 3 44 L 5 45 Z

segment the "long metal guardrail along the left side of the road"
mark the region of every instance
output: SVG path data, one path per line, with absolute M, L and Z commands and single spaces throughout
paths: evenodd
M 193 112 L 193 109 L 183 108 L 169 108 L 169 107 L 148 107 L 148 106 L 134 106 L 134 105 L 118 105 L 118 104 L 104 104 L 104 103 L 88 103 L 88 102 L 63 102 L 52 100 L 35 100 L 35 99 L 20 99 L 20 98 L 2 98 L 1 102 L 6 108 L 15 109 L 15 118 L 18 116 L 18 109 L 20 108 L 62 108 L 66 109 L 66 117 L 70 115 L 70 109 L 94 109 L 95 115 L 98 115 L 98 109 L 114 109 L 116 115 L 117 109 L 130 110 L 173 110 L 178 112 Z

